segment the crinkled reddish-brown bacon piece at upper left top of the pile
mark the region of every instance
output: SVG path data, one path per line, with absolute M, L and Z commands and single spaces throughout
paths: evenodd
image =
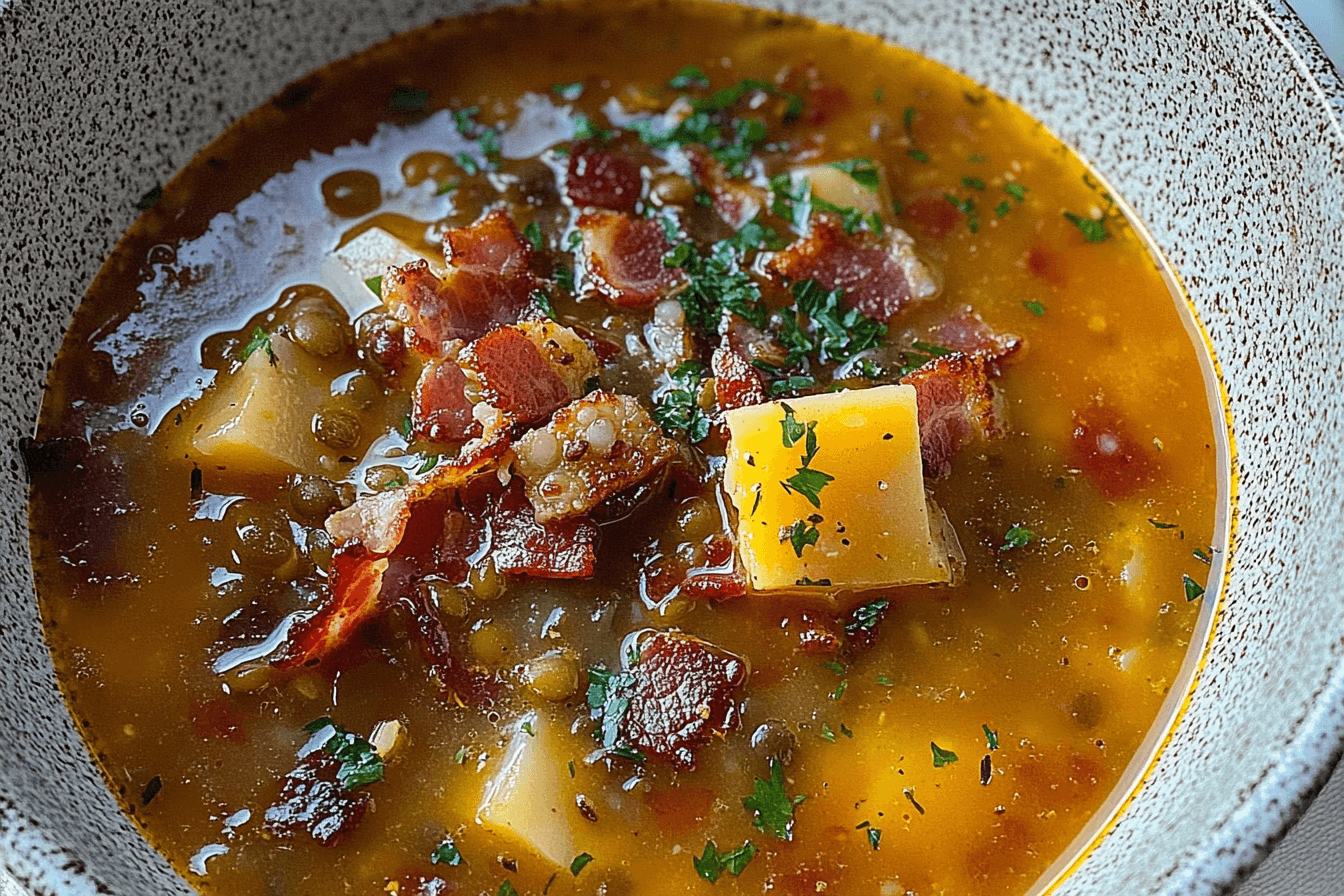
M 391 267 L 383 277 L 383 302 L 406 325 L 407 344 L 427 357 L 442 357 L 454 339 L 477 339 L 512 324 L 536 289 L 528 269 L 532 246 L 500 210 L 448 231 L 444 251 L 449 261 L 444 279 L 423 259 Z

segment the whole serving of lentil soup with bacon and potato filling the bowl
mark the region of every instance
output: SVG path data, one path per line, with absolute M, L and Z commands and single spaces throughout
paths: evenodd
M 500 11 L 142 203 L 34 557 L 203 892 L 1024 893 L 1188 686 L 1202 349 L 1101 181 L 919 56 Z

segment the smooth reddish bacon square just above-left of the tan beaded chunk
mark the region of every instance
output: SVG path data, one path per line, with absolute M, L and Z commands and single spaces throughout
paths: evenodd
M 460 360 L 476 373 L 481 398 L 519 423 L 544 420 L 571 398 L 532 340 L 515 326 L 491 330 Z

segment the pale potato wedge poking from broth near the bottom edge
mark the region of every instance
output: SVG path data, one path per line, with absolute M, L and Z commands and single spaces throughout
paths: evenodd
M 528 733 L 531 731 L 531 733 Z M 524 844 L 554 865 L 579 853 L 577 826 L 589 823 L 575 810 L 566 748 L 556 723 L 527 713 L 509 736 L 499 768 L 485 783 L 476 821 L 493 834 Z

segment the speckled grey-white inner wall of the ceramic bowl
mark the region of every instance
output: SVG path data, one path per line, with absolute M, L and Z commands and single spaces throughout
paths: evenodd
M 71 309 L 138 196 L 321 63 L 477 4 L 0 0 L 0 862 L 34 893 L 188 893 L 55 689 L 16 451 Z M 1024 106 L 1118 188 L 1224 373 L 1239 537 L 1199 686 L 1058 893 L 1220 893 L 1344 742 L 1344 89 L 1282 3 L 788 0 Z M 1320 892 L 1337 892 L 1324 881 Z

